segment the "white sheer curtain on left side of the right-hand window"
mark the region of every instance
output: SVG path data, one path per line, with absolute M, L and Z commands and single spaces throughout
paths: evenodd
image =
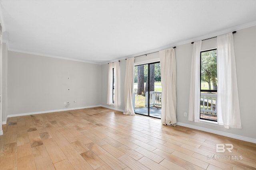
M 199 122 L 200 120 L 200 51 L 202 41 L 194 42 L 191 72 L 190 72 L 190 96 L 188 107 L 188 120 Z

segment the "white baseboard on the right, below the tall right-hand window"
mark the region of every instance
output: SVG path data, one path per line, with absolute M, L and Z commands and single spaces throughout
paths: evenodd
M 184 127 L 189 127 L 189 128 L 192 128 L 192 129 L 205 131 L 205 132 L 209 132 L 209 133 L 214 133 L 216 135 L 231 137 L 231 138 L 239 139 L 239 140 L 246 141 L 246 142 L 256 143 L 256 139 L 250 138 L 250 137 L 244 137 L 244 136 L 235 135 L 235 134 L 232 134 L 232 133 L 216 131 L 216 130 L 213 130 L 213 129 L 208 129 L 208 128 L 205 128 L 205 127 L 199 127 L 199 126 L 190 125 L 190 124 L 181 123 L 181 122 L 177 122 L 177 125 L 184 126 Z

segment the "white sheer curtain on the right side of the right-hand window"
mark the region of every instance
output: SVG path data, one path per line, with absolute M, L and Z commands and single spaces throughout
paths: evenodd
M 236 61 L 232 33 L 217 36 L 217 119 L 226 129 L 241 129 Z

